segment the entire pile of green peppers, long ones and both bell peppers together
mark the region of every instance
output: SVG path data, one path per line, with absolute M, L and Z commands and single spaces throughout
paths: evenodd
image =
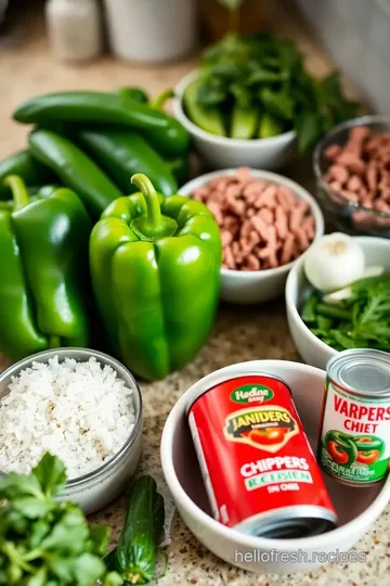
M 190 142 L 161 111 L 171 95 L 52 93 L 14 112 L 35 128 L 29 150 L 0 163 L 0 351 L 11 358 L 92 345 L 155 380 L 205 343 L 221 237 L 204 204 L 176 194 Z

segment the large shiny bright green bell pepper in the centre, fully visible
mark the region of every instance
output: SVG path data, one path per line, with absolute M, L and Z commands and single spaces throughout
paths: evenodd
M 90 240 L 90 270 L 109 342 L 135 374 L 165 378 L 207 340 L 217 311 L 221 237 L 207 207 L 141 192 L 113 202 Z

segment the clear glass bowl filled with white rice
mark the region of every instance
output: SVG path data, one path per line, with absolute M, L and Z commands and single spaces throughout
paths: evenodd
M 28 473 L 47 451 L 67 470 L 62 498 L 87 514 L 126 489 L 142 451 L 142 397 L 123 365 L 56 348 L 0 375 L 0 481 Z

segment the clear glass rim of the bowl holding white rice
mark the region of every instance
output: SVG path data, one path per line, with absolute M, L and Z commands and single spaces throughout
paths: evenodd
M 25 368 L 28 368 L 32 365 L 34 361 L 39 360 L 41 362 L 47 362 L 50 358 L 54 358 L 54 356 L 58 356 L 60 358 L 73 358 L 73 354 L 83 355 L 86 359 L 89 358 L 96 358 L 98 361 L 101 362 L 102 359 L 105 361 L 104 365 L 110 366 L 117 373 L 118 377 L 121 378 L 126 385 L 131 385 L 135 399 L 133 400 L 133 407 L 134 407 L 134 423 L 133 428 L 123 443 L 123 445 L 119 448 L 118 451 L 116 451 L 110 458 L 108 458 L 104 463 L 102 463 L 99 468 L 95 468 L 94 470 L 91 470 L 90 472 L 87 472 L 86 474 L 82 474 L 81 476 L 76 476 L 74 479 L 67 480 L 65 484 L 65 491 L 73 489 L 73 488 L 79 488 L 82 486 L 86 486 L 90 483 L 99 482 L 102 476 L 109 473 L 113 468 L 117 466 L 119 461 L 122 460 L 122 458 L 126 457 L 126 455 L 132 449 L 142 428 L 142 416 L 143 416 L 143 400 L 142 400 L 142 394 L 140 386 L 134 379 L 133 374 L 127 369 L 125 365 L 122 365 L 119 360 L 116 358 L 113 358 L 108 354 L 105 354 L 100 351 L 94 351 L 91 348 L 80 348 L 76 346 L 69 346 L 69 347 L 62 347 L 62 348 L 53 348 L 53 349 L 47 349 L 43 352 L 39 352 L 37 354 L 32 354 L 31 356 L 28 356 L 26 358 L 23 358 L 22 360 L 18 360 L 17 362 L 14 362 L 10 367 L 8 367 L 3 372 L 0 374 L 0 384 L 3 382 L 5 378 L 9 375 L 14 374 L 16 371 L 21 371 Z M 70 354 L 70 356 L 69 356 Z M 77 358 L 75 358 L 77 360 Z M 87 361 L 86 360 L 86 361 Z M 80 359 L 78 359 L 80 361 Z M 83 361 L 83 360 L 82 360 Z M 102 364 L 102 362 L 101 362 Z M 16 374 L 17 375 L 17 374 Z M 138 410 L 136 405 L 138 403 Z M 65 462 L 64 462 L 65 463 Z M 65 464 L 66 466 L 66 464 Z M 0 481 L 2 479 L 5 479 L 9 475 L 9 472 L 2 472 L 0 470 Z

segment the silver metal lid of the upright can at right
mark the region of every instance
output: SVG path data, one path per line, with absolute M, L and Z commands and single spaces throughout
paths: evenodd
M 363 395 L 390 394 L 390 354 L 377 349 L 350 349 L 330 358 L 327 373 L 336 383 Z

